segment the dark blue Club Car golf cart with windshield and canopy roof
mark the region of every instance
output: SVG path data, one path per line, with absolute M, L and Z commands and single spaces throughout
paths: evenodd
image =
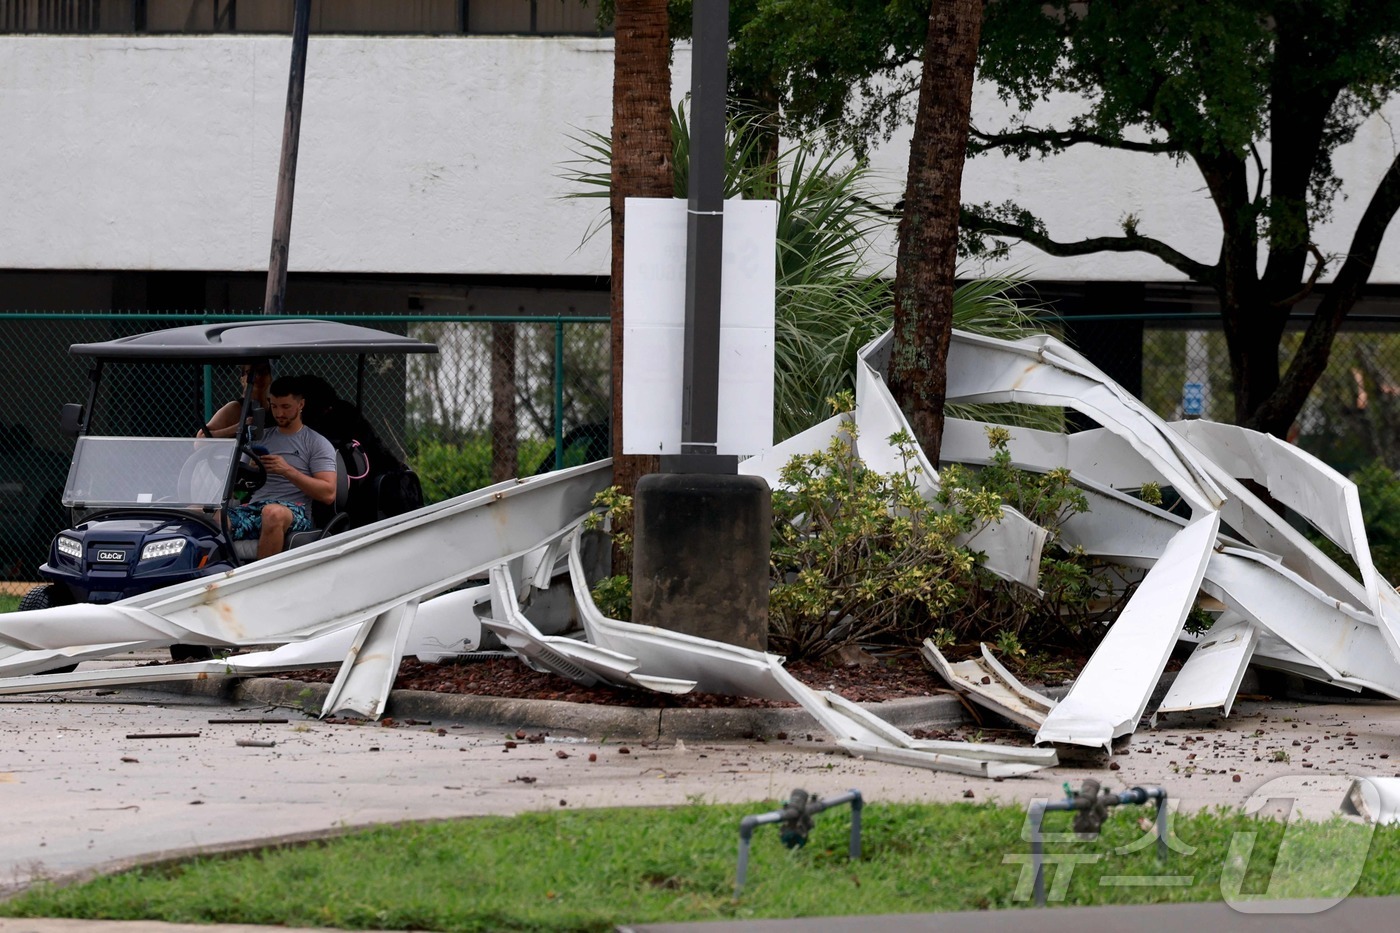
M 209 364 L 295 360 L 308 366 L 316 357 L 354 356 L 358 410 L 368 356 L 435 352 L 431 343 L 371 328 L 293 318 L 202 324 L 73 345 L 70 353 L 91 360 L 87 403 L 64 405 L 62 417 L 63 431 L 76 438 L 63 489 L 73 525 L 53 539 L 39 567 L 48 583 L 34 587 L 21 608 L 115 602 L 252 559 L 256 542 L 232 541 L 227 506 L 267 478 L 255 445 L 270 417 L 258 406 L 248 380 L 237 436 L 211 437 L 204 415 L 196 413 L 209 406 Z M 127 378 L 125 395 L 104 392 L 113 371 L 130 373 L 126 364 L 137 364 L 140 374 Z M 130 403 L 133 391 L 140 405 Z M 342 459 L 332 511 L 344 510 L 347 492 Z M 288 535 L 288 548 L 335 531 L 333 514 L 321 507 L 314 511 L 322 513 L 315 516 L 316 528 Z

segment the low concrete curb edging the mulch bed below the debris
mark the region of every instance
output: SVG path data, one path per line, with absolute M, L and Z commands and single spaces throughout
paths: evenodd
M 211 696 L 235 705 L 279 706 L 318 714 L 330 692 L 328 684 L 307 684 L 276 677 L 211 678 L 147 684 L 161 693 Z M 862 703 L 899 728 L 948 728 L 969 721 L 963 705 L 949 695 L 909 696 L 883 703 Z M 384 714 L 392 719 L 451 721 L 482 727 L 526 728 L 594 740 L 627 741 L 738 741 L 778 733 L 825 734 L 801 707 L 633 707 L 564 700 L 391 691 Z

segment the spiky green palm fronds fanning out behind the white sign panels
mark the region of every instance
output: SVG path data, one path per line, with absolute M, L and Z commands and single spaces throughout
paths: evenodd
M 826 399 L 854 388 L 857 350 L 890 326 L 893 280 L 885 275 L 888 261 L 876 266 L 871 244 L 892 213 L 872 196 L 869 168 L 854 150 L 798 140 L 776 163 L 764 161 L 760 134 L 750 132 L 755 119 L 729 120 L 724 191 L 725 198 L 777 202 L 773 430 L 783 438 L 830 415 Z M 606 196 L 612 140 L 592 130 L 568 139 L 574 158 L 563 163 L 561 177 L 580 188 L 568 196 Z M 690 132 L 683 102 L 672 112 L 672 140 L 675 192 L 685 198 Z M 605 210 L 585 241 L 606 226 Z M 959 286 L 953 326 L 1007 339 L 1037 332 L 1035 308 L 1014 294 L 1021 284 L 1018 276 L 1002 275 Z M 1026 406 L 949 406 L 951 415 L 958 412 L 1047 427 L 1063 422 Z

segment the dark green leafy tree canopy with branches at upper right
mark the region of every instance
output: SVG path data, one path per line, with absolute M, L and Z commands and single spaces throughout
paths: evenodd
M 755 87 L 787 132 L 827 126 L 862 151 L 907 122 L 928 11 L 913 0 L 753 0 L 731 21 L 734 87 Z M 974 122 L 994 122 L 972 127 L 970 154 L 1040 158 L 1088 146 L 1176 158 L 1200 172 L 1221 247 L 1193 255 L 1198 238 L 1168 242 L 1135 216 L 1099 235 L 1057 240 L 1023 206 L 991 200 L 965 205 L 962 248 L 995 256 L 1021 241 L 1053 256 L 1145 254 L 1211 287 L 1236 420 L 1287 433 L 1400 209 L 1396 158 L 1378 185 L 1355 192 L 1365 210 L 1345 255 L 1315 242 L 1343 196 L 1337 148 L 1400 92 L 1400 4 L 987 3 L 979 78 L 1008 108 L 974 112 Z M 1323 275 L 1333 280 L 1305 340 L 1281 356 L 1289 315 Z

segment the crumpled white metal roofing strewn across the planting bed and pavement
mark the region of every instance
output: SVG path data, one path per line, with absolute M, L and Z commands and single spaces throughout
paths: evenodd
M 872 468 L 902 466 L 889 437 L 907 424 L 883 381 L 889 345 L 886 335 L 862 349 L 854 412 L 777 444 L 741 469 L 776 485 L 791 455 L 825 448 L 843 431 L 858 436 L 857 452 Z M 1054 702 L 1028 691 L 990 653 L 962 664 L 948 664 L 937 650 L 930 654 L 956 689 L 1033 730 L 1042 748 L 916 740 L 840 696 L 804 686 L 776 656 L 608 619 L 589 597 L 580 525 L 594 493 L 610 479 L 606 461 L 500 483 L 224 577 L 112 605 L 0 616 L 0 644 L 8 646 L 0 649 L 0 692 L 339 661 L 323 712 L 372 717 L 382 712 L 406 650 L 475 647 L 486 632 L 525 663 L 582 682 L 792 699 L 853 754 L 1014 776 L 1054 763 L 1053 745 L 1110 748 L 1130 735 L 1149 713 L 1187 614 L 1205 595 L 1224 609 L 1154 714 L 1217 707 L 1228 714 L 1249 664 L 1400 698 L 1400 597 L 1376 573 L 1348 479 L 1268 436 L 1210 422 L 1168 424 L 1053 338 L 1007 342 L 955 332 L 948 375 L 949 401 L 1068 408 L 1102 426 L 1075 434 L 1008 429 L 1015 465 L 1068 468 L 1084 489 L 1089 511 L 1064 524 L 1065 542 L 1112 562 L 1137 584 L 1068 693 Z M 942 459 L 986 462 L 986 427 L 949 419 Z M 920 486 L 932 499 L 938 474 L 921 451 L 917 461 Z M 1361 579 L 1282 521 L 1243 481 L 1267 488 L 1312 521 L 1352 558 Z M 1190 516 L 1134 496 L 1145 483 L 1170 486 Z M 1043 528 L 1007 510 L 972 544 L 986 552 L 993 572 L 1033 590 L 1046 539 Z M 487 587 L 454 591 L 483 573 L 490 576 Z M 582 637 L 528 618 L 526 607 L 545 593 L 563 597 Z M 286 647 L 157 671 L 27 677 L 172 643 Z M 984 672 L 974 675 L 966 665 Z

